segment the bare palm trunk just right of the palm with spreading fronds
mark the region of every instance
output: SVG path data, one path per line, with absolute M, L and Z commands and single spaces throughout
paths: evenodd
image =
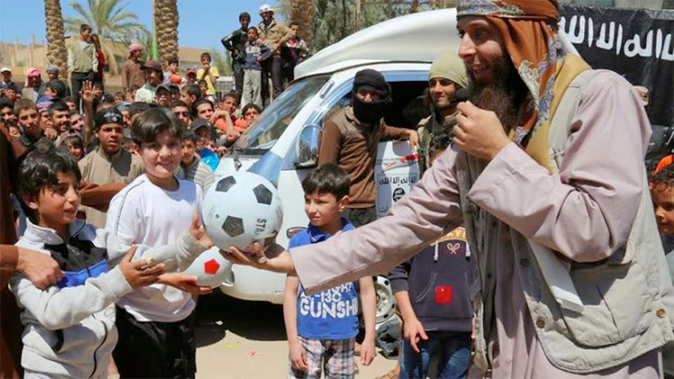
M 154 32 L 161 65 L 178 56 L 178 4 L 176 0 L 154 0 Z

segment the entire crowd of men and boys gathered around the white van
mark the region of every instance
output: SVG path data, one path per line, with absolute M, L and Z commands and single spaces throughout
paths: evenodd
M 673 156 L 645 170 L 640 98 L 564 51 L 546 27 L 559 16 L 553 1 L 503 2 L 460 2 L 458 55 L 432 62 L 430 116 L 410 128 L 385 124 L 393 94 L 383 75 L 357 72 L 302 182 L 305 230 L 272 246 L 274 258 L 260 246 L 223 252 L 288 274 L 290 378 L 352 378 L 355 354 L 371 363 L 371 276 L 387 271 L 403 327 L 385 378 L 465 378 L 471 362 L 495 378 L 662 374 L 673 339 Z M 46 83 L 29 69 L 22 89 L 1 69 L 4 376 L 194 377 L 192 295 L 210 289 L 180 272 L 213 246 L 199 221 L 204 193 L 220 157 L 308 53 L 300 25 L 280 24 L 268 6 L 260 16 L 250 27 L 242 13 L 222 40 L 235 79 L 224 95 L 208 53 L 183 76 L 177 58 L 141 62 L 137 43 L 122 91 L 106 93 L 105 55 L 88 25 L 69 51 L 70 86 L 54 66 Z M 522 62 L 541 63 L 541 73 L 522 74 Z M 571 84 L 581 88 L 576 107 L 559 105 Z M 409 140 L 424 175 L 377 220 L 385 139 Z M 570 267 L 586 314 L 560 305 L 538 248 Z M 662 353 L 667 364 L 671 352 Z

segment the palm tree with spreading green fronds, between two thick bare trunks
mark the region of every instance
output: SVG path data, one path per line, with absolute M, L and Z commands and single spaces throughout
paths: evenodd
M 65 19 L 65 29 L 68 32 L 79 34 L 79 26 L 91 25 L 93 32 L 100 36 L 100 45 L 110 71 L 119 72 L 114 48 L 128 44 L 134 36 L 147 32 L 145 26 L 138 22 L 138 15 L 124 11 L 128 3 L 121 4 L 121 0 L 87 0 L 86 8 L 78 1 L 70 1 L 70 6 L 79 13 L 78 17 Z

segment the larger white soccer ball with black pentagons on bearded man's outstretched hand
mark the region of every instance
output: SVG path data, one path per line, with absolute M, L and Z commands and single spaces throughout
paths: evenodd
M 283 208 L 279 192 L 269 180 L 239 171 L 211 185 L 201 217 L 216 246 L 224 251 L 230 246 L 248 251 L 254 242 L 267 248 L 276 240 Z

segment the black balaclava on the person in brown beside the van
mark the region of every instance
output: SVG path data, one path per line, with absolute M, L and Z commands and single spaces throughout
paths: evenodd
M 373 102 L 360 100 L 356 93 L 361 88 L 379 93 L 381 100 Z M 374 69 L 362 69 L 356 73 L 353 80 L 351 105 L 353 106 L 353 114 L 358 121 L 369 126 L 379 124 L 390 102 L 391 88 L 380 72 Z

